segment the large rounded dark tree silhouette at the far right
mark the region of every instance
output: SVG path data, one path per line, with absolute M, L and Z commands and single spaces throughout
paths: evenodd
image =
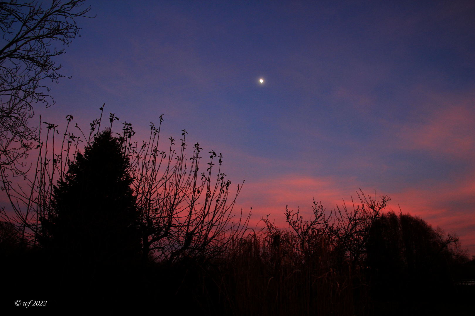
M 398 308 L 413 309 L 457 292 L 453 268 L 465 261 L 466 252 L 456 235 L 433 229 L 420 217 L 382 214 L 371 227 L 367 249 L 377 301 L 398 298 Z

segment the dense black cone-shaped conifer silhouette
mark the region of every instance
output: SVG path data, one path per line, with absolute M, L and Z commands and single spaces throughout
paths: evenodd
M 121 263 L 140 251 L 138 211 L 129 160 L 110 130 L 77 153 L 54 188 L 52 214 L 42 218 L 43 244 L 85 263 Z

